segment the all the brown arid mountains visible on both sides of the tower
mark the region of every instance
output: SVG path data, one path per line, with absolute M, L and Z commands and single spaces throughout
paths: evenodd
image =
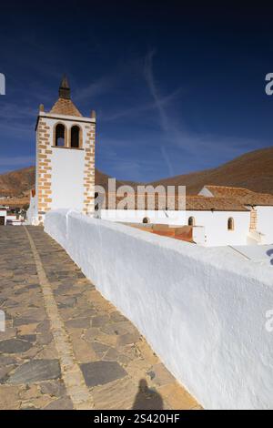
M 96 184 L 106 188 L 109 176 L 96 169 Z M 118 181 L 123 184 L 136 185 L 134 182 Z M 218 168 L 193 172 L 172 178 L 165 178 L 151 183 L 164 186 L 187 186 L 187 194 L 197 194 L 204 185 L 234 186 L 273 194 L 273 148 L 246 153 Z M 0 197 L 27 196 L 35 187 L 35 167 L 18 169 L 0 175 Z

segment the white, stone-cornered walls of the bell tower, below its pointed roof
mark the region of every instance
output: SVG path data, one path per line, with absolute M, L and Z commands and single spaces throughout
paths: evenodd
M 77 209 L 86 214 L 93 213 L 96 119 L 65 115 L 56 117 L 41 112 L 39 120 L 43 123 L 45 134 L 37 130 L 35 195 L 30 198 L 28 224 L 35 225 L 43 221 L 49 209 Z M 56 146 L 58 124 L 66 127 L 64 147 Z M 79 148 L 68 146 L 71 128 L 75 126 L 80 129 Z

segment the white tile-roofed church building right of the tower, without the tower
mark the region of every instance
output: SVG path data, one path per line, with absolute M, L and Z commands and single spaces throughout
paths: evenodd
M 205 186 L 180 210 L 120 209 L 117 199 L 97 216 L 209 247 L 273 243 L 273 195 L 243 188 Z

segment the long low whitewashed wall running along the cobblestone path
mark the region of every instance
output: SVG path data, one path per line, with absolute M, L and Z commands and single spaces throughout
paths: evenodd
M 273 409 L 273 270 L 81 214 L 45 231 L 207 409 Z

